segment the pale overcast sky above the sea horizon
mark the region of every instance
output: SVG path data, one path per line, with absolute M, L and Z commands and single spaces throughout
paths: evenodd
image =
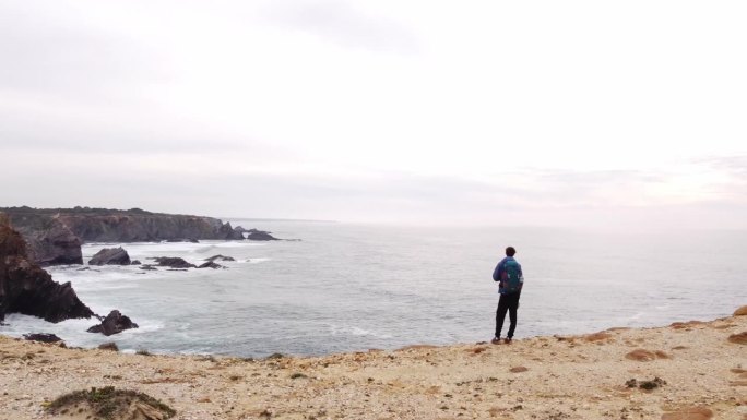
M 744 1 L 0 0 L 0 206 L 747 229 Z

